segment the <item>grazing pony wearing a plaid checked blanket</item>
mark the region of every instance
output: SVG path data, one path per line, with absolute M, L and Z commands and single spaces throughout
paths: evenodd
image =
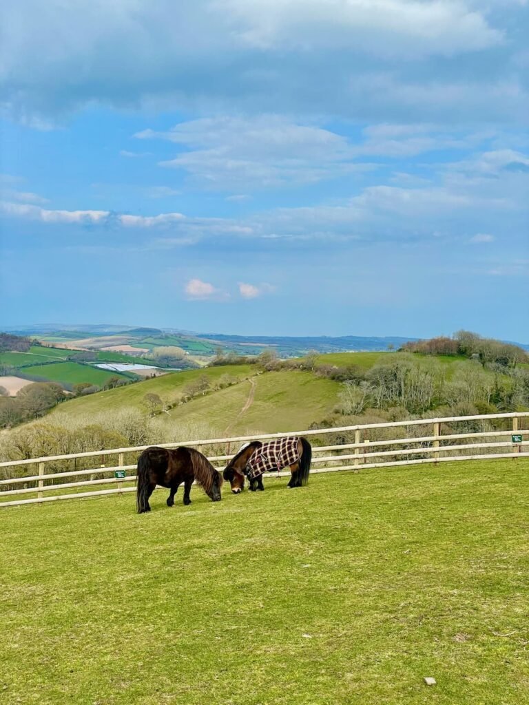
M 264 490 L 262 475 L 264 472 L 279 472 L 289 467 L 291 479 L 288 487 L 301 487 L 308 482 L 312 446 L 303 436 L 285 436 L 262 443 L 250 441 L 233 456 L 224 468 L 222 477 L 229 480 L 233 494 L 244 489 L 244 479 L 248 477 L 250 490 Z

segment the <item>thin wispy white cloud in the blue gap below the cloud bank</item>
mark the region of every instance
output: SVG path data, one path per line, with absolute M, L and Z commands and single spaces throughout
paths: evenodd
M 181 168 L 201 185 L 222 190 L 317 183 L 372 168 L 354 162 L 346 137 L 274 115 L 200 118 L 135 137 L 184 145 L 185 152 L 160 165 Z

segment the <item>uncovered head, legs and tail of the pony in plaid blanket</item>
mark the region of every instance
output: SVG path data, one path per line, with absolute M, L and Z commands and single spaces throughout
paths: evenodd
M 244 489 L 245 470 L 248 465 L 250 456 L 257 448 L 262 447 L 262 441 L 250 441 L 238 450 L 238 453 L 231 458 L 230 462 L 224 468 L 222 477 L 228 480 L 231 485 L 233 494 L 239 494 Z M 310 461 L 312 460 L 312 446 L 307 439 L 300 436 L 298 439 L 299 460 L 289 465 L 291 479 L 287 487 L 301 487 L 307 484 L 308 475 L 310 472 Z M 262 475 L 258 475 L 254 479 L 248 479 L 250 491 L 263 491 L 265 487 L 262 484 Z

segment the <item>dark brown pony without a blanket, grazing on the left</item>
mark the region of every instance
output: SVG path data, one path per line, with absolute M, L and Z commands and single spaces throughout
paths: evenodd
M 190 504 L 189 493 L 193 480 L 199 484 L 207 496 L 218 502 L 221 498 L 222 477 L 195 448 L 147 448 L 138 458 L 138 490 L 136 507 L 138 514 L 150 512 L 149 498 L 157 484 L 169 487 L 167 506 L 174 505 L 174 496 L 183 482 L 183 503 Z

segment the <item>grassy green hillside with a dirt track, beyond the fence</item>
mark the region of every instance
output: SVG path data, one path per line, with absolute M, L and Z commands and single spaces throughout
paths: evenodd
M 393 353 L 334 353 L 318 357 L 317 362 L 329 367 L 354 365 L 367 372 L 383 360 L 396 360 Z M 415 356 L 415 360 L 432 362 L 431 358 Z M 435 358 L 451 379 L 454 370 L 476 369 L 476 364 L 456 357 Z M 479 369 L 481 366 L 478 366 Z M 486 373 L 485 373 L 486 374 Z M 214 388 L 198 393 L 186 403 L 178 404 L 186 388 L 198 379 L 206 378 L 214 388 L 221 378 L 231 379 L 225 388 Z M 332 415 L 339 402 L 343 386 L 308 371 L 281 370 L 261 372 L 255 365 L 225 365 L 200 370 L 167 374 L 155 379 L 103 391 L 91 396 L 68 400 L 51 412 L 51 418 L 78 419 L 83 424 L 101 412 L 133 407 L 145 414 L 143 400 L 146 394 L 158 395 L 162 401 L 175 405 L 156 416 L 160 434 L 166 436 L 172 427 L 178 436 L 178 426 L 209 429 L 216 435 L 253 432 L 291 431 L 307 428 L 313 422 Z

